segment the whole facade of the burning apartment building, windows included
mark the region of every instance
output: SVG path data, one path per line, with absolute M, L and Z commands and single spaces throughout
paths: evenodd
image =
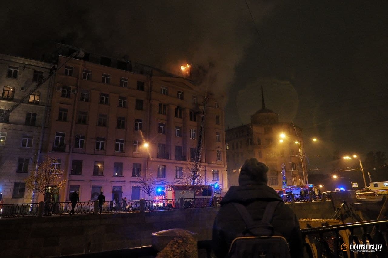
M 58 67 L 68 61 L 59 56 Z M 145 198 L 139 180 L 156 186 L 187 184 L 205 92 L 191 81 L 152 67 L 95 54 L 57 71 L 49 141 L 67 185 L 59 200 L 78 191 L 81 201 Z M 219 101 L 220 102 L 220 101 Z M 223 109 L 207 100 L 201 168 L 203 184 L 227 189 Z M 148 143 L 148 147 L 144 147 Z

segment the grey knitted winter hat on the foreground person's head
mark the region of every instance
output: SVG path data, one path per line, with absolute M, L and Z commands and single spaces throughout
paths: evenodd
M 244 165 L 242 165 L 240 174 L 239 174 L 239 185 L 248 185 L 248 184 L 267 184 L 268 167 L 262 162 L 259 162 L 257 158 L 250 158 L 245 160 Z

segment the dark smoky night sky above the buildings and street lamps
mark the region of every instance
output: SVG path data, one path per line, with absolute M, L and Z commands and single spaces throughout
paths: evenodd
M 0 53 L 39 58 L 64 41 L 178 75 L 202 65 L 226 128 L 249 123 L 263 86 L 266 107 L 303 128 L 312 167 L 336 151 L 388 156 L 388 2 L 247 2 L 255 24 L 241 0 L 8 1 Z

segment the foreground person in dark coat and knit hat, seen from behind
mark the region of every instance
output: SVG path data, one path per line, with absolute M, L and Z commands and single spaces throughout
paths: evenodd
M 298 218 L 274 189 L 267 186 L 268 167 L 256 158 L 247 159 L 241 167 L 239 186 L 231 186 L 221 201 L 213 225 L 213 250 L 217 257 L 228 254 L 230 244 L 241 235 L 246 225 L 233 202 L 246 206 L 252 219 L 261 221 L 264 210 L 270 201 L 281 201 L 274 212 L 271 224 L 274 230 L 287 240 L 291 257 L 303 257 L 303 241 Z

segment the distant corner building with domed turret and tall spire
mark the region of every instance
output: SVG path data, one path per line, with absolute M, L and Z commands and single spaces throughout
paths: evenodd
M 280 136 L 282 133 L 284 139 Z M 268 186 L 274 189 L 282 189 L 284 183 L 287 186 L 304 184 L 303 178 L 307 179 L 300 157 L 303 151 L 299 150 L 299 146 L 303 150 L 302 130 L 293 124 L 279 123 L 278 115 L 265 108 L 263 91 L 262 109 L 251 115 L 251 123 L 226 130 L 225 137 L 229 186 L 238 185 L 241 165 L 251 157 L 267 164 Z M 285 180 L 282 170 L 285 170 Z

